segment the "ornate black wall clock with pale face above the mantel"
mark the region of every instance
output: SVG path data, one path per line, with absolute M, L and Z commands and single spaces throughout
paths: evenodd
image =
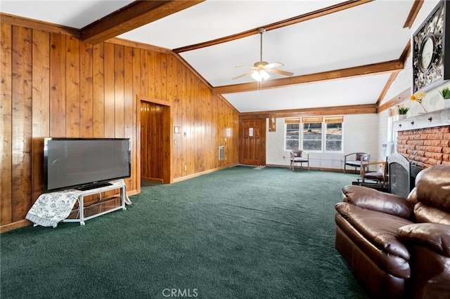
M 413 93 L 427 91 L 450 79 L 450 36 L 446 38 L 450 13 L 447 2 L 439 2 L 413 34 Z

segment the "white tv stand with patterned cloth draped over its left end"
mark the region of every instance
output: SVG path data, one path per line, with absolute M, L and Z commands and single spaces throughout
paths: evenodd
M 127 198 L 127 186 L 124 180 L 115 180 L 110 182 L 111 185 L 105 187 L 98 187 L 91 190 L 63 190 L 58 192 L 44 193 L 39 196 L 37 201 L 33 204 L 30 211 L 26 215 L 26 219 L 34 222 L 34 226 L 53 226 L 56 227 L 58 222 L 79 222 L 80 225 L 84 225 L 86 220 L 96 218 L 105 213 L 110 213 L 117 210 L 127 210 L 125 207 L 125 200 Z M 84 206 L 84 197 L 89 195 L 98 194 L 101 192 L 107 192 L 111 190 L 120 190 L 120 204 L 111 208 L 105 209 L 95 213 L 94 215 L 85 216 L 87 208 L 100 206 L 106 204 L 108 201 L 117 200 L 109 199 L 107 201 L 99 201 L 91 206 Z M 78 201 L 78 208 L 73 207 Z M 68 218 L 70 213 L 76 213 L 76 218 Z

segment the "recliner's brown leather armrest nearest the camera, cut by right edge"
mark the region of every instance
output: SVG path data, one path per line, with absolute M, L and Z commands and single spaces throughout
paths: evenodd
M 397 230 L 397 237 L 405 244 L 424 246 L 450 258 L 450 225 L 438 223 L 414 223 Z

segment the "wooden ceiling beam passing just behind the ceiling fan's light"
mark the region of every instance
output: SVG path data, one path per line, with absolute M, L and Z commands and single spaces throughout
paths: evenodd
M 375 63 L 372 65 L 361 65 L 359 67 L 349 67 L 347 69 L 336 69 L 328 72 L 316 74 L 305 74 L 302 76 L 274 79 L 264 82 L 257 86 L 257 82 L 217 86 L 212 88 L 212 93 L 242 93 L 244 91 L 256 91 L 258 89 L 278 88 L 296 84 L 306 84 L 311 82 L 333 80 L 351 77 L 361 77 L 371 74 L 384 74 L 387 72 L 397 72 L 404 68 L 404 62 L 401 60 L 392 60 L 387 62 Z

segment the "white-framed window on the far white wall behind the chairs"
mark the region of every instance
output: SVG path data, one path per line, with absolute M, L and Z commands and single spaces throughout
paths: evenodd
M 285 119 L 285 150 L 342 152 L 343 123 L 344 117 Z

